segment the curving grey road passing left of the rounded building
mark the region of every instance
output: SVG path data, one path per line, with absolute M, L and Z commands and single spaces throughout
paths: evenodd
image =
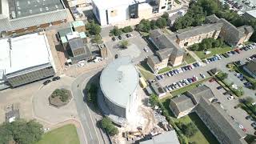
M 84 102 L 84 94 L 82 90 L 85 88 L 86 83 L 90 80 L 92 76 L 101 71 L 102 68 L 97 70 L 91 70 L 86 74 L 81 74 L 74 80 L 71 86 L 72 93 L 74 95 L 74 102 L 76 103 L 78 110 L 78 117 L 82 122 L 82 127 L 84 129 L 85 141 L 82 143 L 86 144 L 104 144 L 107 142 L 106 137 L 102 137 L 99 128 L 96 126 L 96 118 L 94 111 L 90 110 L 86 102 Z

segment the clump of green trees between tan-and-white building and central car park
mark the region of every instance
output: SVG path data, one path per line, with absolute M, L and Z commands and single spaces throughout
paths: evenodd
M 158 18 L 157 20 L 146 20 L 142 19 L 141 22 L 136 26 L 136 30 L 142 31 L 142 32 L 149 32 L 150 30 L 154 29 L 162 29 L 167 26 L 167 20 L 169 18 L 168 13 L 162 14 L 161 18 Z

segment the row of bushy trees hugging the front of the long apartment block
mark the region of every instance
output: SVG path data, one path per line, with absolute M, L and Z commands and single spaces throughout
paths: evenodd
M 194 45 L 190 46 L 189 49 L 192 51 L 202 51 L 222 46 L 224 46 L 224 41 L 222 38 L 205 38 L 202 40 L 202 42 L 195 43 Z

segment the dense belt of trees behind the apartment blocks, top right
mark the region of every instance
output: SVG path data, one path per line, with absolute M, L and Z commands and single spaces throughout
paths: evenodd
M 234 26 L 250 25 L 256 30 L 256 20 L 240 17 L 230 6 L 222 4 L 219 0 L 198 0 L 190 2 L 187 13 L 174 22 L 174 30 L 184 29 L 188 26 L 200 26 L 205 22 L 206 16 L 216 14 L 218 18 L 225 18 Z M 256 42 L 256 32 L 250 38 Z

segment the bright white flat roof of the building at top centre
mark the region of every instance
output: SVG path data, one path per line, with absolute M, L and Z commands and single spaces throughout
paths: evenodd
M 92 0 L 98 9 L 109 9 L 122 5 L 134 4 L 134 0 Z

